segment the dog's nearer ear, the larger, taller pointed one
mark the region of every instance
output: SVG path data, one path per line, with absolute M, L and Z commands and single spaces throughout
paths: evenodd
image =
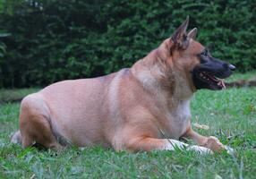
M 183 21 L 182 25 L 175 30 L 174 35 L 172 36 L 171 40 L 174 42 L 175 47 L 185 49 L 189 45 L 189 41 L 187 38 L 187 27 L 189 24 L 189 16 L 187 16 L 187 19 Z

